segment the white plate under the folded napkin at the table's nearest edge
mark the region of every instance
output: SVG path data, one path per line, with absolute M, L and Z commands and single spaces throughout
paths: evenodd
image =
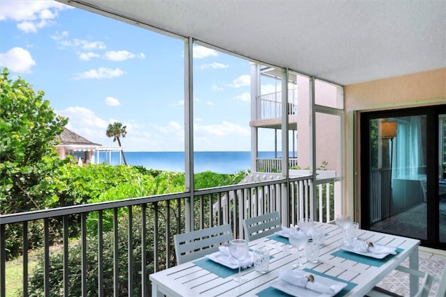
M 329 286 L 330 288 L 334 289 L 334 295 L 338 294 L 342 289 L 347 287 L 347 284 L 345 282 L 338 282 L 337 280 L 332 280 L 331 278 L 324 278 L 323 276 L 317 275 L 315 276 L 317 278 L 318 282 L 321 282 L 322 284 L 325 284 L 326 286 Z M 330 294 L 321 294 L 316 291 L 312 291 L 309 289 L 305 289 L 302 287 L 295 286 L 294 284 L 290 284 L 289 282 L 285 282 L 283 280 L 276 280 L 275 282 L 271 283 L 271 287 L 278 289 L 280 291 L 285 292 L 286 294 L 289 294 L 291 296 L 298 296 L 298 297 L 331 297 L 334 295 Z

